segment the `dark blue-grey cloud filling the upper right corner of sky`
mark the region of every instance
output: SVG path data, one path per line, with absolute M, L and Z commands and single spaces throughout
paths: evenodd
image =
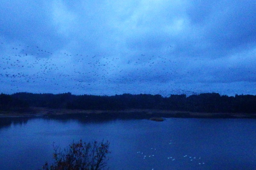
M 255 47 L 255 8 L 253 1 L 194 3 L 188 17 L 199 28 L 210 56 L 222 57 Z

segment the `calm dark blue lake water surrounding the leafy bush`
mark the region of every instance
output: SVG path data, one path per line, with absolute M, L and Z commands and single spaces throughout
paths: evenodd
M 256 169 L 255 119 L 0 118 L 0 169 L 39 169 L 52 143 L 110 141 L 114 170 Z

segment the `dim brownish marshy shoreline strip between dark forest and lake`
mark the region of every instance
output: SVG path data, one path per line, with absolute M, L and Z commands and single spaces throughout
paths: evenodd
M 80 109 L 51 109 L 45 107 L 31 107 L 30 112 L 0 112 L 2 117 L 39 117 L 39 116 L 60 116 L 60 115 L 90 115 L 90 116 L 111 116 L 111 117 L 179 117 L 179 118 L 256 118 L 256 114 L 242 113 L 204 113 L 156 109 L 126 109 L 126 110 L 80 110 Z

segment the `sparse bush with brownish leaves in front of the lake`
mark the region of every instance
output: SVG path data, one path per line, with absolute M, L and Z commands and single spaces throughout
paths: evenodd
M 54 163 L 49 167 L 46 162 L 43 170 L 101 170 L 107 166 L 109 142 L 102 141 L 98 143 L 78 143 L 69 144 L 69 146 L 60 150 L 59 146 L 53 143 Z M 108 169 L 108 168 L 107 168 Z

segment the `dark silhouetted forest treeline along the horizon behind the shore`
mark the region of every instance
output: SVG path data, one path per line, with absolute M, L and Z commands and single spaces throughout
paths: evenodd
M 124 109 L 163 109 L 209 113 L 256 113 L 256 96 L 227 96 L 219 93 L 202 93 L 186 96 L 151 94 L 122 94 L 115 96 L 33 94 L 27 92 L 0 95 L 0 110 L 47 107 L 83 110 L 124 110 Z

